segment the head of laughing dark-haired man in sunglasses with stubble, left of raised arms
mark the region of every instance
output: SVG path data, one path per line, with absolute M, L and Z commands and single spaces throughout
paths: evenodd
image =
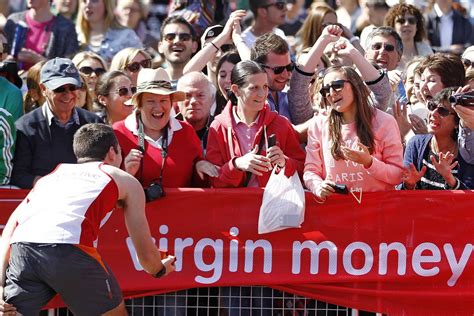
M 168 17 L 163 22 L 160 31 L 161 40 L 158 51 L 165 58 L 166 72 L 175 90 L 178 79 L 183 75 L 184 66 L 198 48 L 196 32 L 192 25 L 181 16 Z

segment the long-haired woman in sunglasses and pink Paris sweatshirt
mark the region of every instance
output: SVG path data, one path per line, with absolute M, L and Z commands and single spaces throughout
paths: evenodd
M 321 93 L 330 106 L 308 130 L 304 181 L 325 200 L 335 184 L 352 191 L 393 190 L 401 179 L 403 147 L 395 119 L 370 104 L 370 92 L 352 67 L 324 73 Z

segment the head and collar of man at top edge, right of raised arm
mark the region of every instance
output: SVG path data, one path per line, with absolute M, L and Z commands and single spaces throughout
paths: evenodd
M 285 33 L 277 27 L 285 23 L 286 0 L 249 0 L 249 6 L 254 22 L 242 32 L 242 39 L 249 48 L 257 37 L 266 33 L 274 33 L 286 41 Z

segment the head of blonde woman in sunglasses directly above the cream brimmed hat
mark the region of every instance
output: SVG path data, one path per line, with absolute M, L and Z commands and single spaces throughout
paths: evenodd
M 151 68 L 151 56 L 144 49 L 127 47 L 112 59 L 110 70 L 124 71 L 137 84 L 138 72 L 142 68 Z

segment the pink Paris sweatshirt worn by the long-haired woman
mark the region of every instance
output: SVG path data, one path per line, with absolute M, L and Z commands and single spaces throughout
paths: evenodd
M 331 154 L 329 121 L 326 116 L 317 116 L 308 130 L 304 183 L 315 192 L 325 179 L 345 184 L 348 189 L 362 191 L 394 190 L 401 181 L 403 168 L 403 146 L 397 122 L 390 114 L 375 110 L 372 120 L 375 137 L 375 151 L 372 165 L 364 166 L 348 160 L 335 160 Z M 342 126 L 342 142 L 347 147 L 355 147 L 359 141 L 356 124 Z

